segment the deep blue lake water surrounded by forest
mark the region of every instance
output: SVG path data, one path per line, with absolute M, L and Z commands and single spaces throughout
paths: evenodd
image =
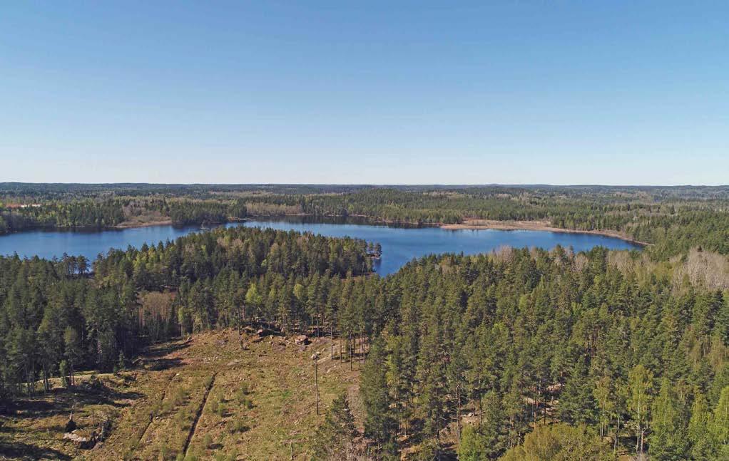
M 641 248 L 634 243 L 613 237 L 566 232 L 531 230 L 446 230 L 440 227 L 395 227 L 373 224 L 353 224 L 349 221 L 321 222 L 310 218 L 241 221 L 225 226 L 262 226 L 299 232 L 314 232 L 329 237 L 356 237 L 381 243 L 383 256 L 375 261 L 375 270 L 387 275 L 396 272 L 408 261 L 430 253 L 486 253 L 502 246 L 554 248 L 572 246 L 574 251 L 604 246 L 614 250 Z M 98 253 L 109 248 L 125 249 L 129 245 L 139 248 L 143 243 L 175 240 L 190 232 L 200 232 L 200 226 L 149 226 L 135 229 L 104 231 L 37 230 L 0 236 L 0 254 L 17 253 L 21 257 L 42 258 L 84 255 L 96 259 Z

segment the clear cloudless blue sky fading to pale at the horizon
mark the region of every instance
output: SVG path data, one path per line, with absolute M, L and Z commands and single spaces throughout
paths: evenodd
M 7 1 L 0 181 L 727 184 L 728 20 L 727 1 Z

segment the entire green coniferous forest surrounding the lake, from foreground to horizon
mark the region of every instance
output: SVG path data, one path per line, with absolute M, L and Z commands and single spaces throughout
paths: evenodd
M 53 205 L 7 208 L 5 222 L 114 223 L 140 203 L 177 222 L 221 221 L 289 207 L 323 214 L 347 200 L 373 207 L 352 205 L 349 214 L 548 218 L 575 229 L 626 230 L 653 245 L 434 255 L 388 277 L 372 272 L 376 243 L 244 227 L 109 250 L 95 261 L 4 256 L 0 398 L 42 393 L 52 377 L 73 385 L 80 370 L 114 370 L 152 342 L 255 326 L 336 336 L 347 344 L 344 355 L 363 360 L 371 458 L 397 459 L 418 446 L 421 459 L 614 460 L 625 452 L 729 459 L 725 192 L 657 190 L 625 200 L 593 189 L 499 192 L 508 198 L 468 189 L 320 192 L 220 200 L 173 189 L 98 202 L 97 190 L 49 187 L 44 197 L 13 192 L 15 202 Z M 403 205 L 413 197 L 420 208 Z M 358 437 L 348 405 L 346 398 L 332 404 L 315 458 L 364 456 L 347 443 Z

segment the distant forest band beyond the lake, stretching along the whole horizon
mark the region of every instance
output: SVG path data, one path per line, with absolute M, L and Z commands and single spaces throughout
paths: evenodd
M 34 227 L 206 224 L 246 216 L 364 217 L 403 224 L 547 221 L 652 243 L 655 259 L 729 254 L 729 188 L 0 184 L 0 234 Z

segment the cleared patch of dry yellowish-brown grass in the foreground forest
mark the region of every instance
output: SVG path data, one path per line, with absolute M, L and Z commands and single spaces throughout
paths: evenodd
M 330 402 L 342 392 L 356 401 L 358 363 L 350 371 L 348 363 L 331 360 L 328 339 L 300 347 L 285 338 L 252 342 L 243 336 L 241 348 L 235 336 L 219 331 L 162 344 L 138 369 L 99 375 L 106 390 L 56 389 L 21 403 L 14 419 L 4 419 L 0 458 L 26 452 L 26 459 L 289 460 L 293 451 L 295 459 L 308 459 L 311 436 Z M 321 416 L 313 393 L 314 351 L 321 352 Z M 79 427 L 93 427 L 101 414 L 113 418 L 111 436 L 94 449 L 63 440 L 74 402 Z

